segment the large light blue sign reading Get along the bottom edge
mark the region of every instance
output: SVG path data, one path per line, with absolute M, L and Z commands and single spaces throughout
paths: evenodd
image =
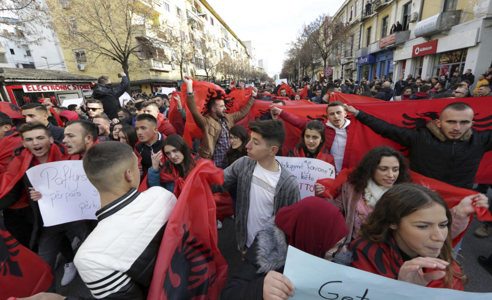
M 485 300 L 492 293 L 427 288 L 332 263 L 289 246 L 283 274 L 294 284 L 292 299 Z M 291 297 L 289 297 L 291 299 Z

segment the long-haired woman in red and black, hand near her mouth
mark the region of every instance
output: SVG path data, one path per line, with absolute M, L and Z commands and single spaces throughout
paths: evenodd
M 463 290 L 454 259 L 452 215 L 437 193 L 418 184 L 389 189 L 353 241 L 352 266 L 421 286 Z

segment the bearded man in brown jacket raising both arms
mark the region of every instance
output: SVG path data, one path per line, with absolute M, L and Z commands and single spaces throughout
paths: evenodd
M 187 86 L 188 109 L 196 125 L 203 132 L 198 154 L 201 158 L 212 159 L 217 167 L 227 167 L 226 152 L 231 146 L 229 129 L 250 111 L 258 90 L 253 88 L 250 100 L 241 110 L 231 114 L 226 113 L 227 108 L 223 99 L 212 98 L 207 104 L 209 115 L 202 116 L 196 107 L 192 79 L 185 76 L 183 82 Z

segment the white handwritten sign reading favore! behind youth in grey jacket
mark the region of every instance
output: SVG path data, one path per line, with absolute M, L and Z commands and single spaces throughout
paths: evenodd
M 315 196 L 314 183 L 318 179 L 335 178 L 335 167 L 326 161 L 307 157 L 275 156 L 282 168 L 289 170 L 299 182 L 301 199 Z

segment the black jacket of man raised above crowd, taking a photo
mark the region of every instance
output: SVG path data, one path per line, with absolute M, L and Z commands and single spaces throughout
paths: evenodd
M 121 108 L 118 98 L 125 93 L 129 84 L 130 79 L 128 76 L 123 76 L 121 78 L 121 84 L 114 88 L 111 83 L 96 83 L 94 85 L 92 98 L 103 102 L 104 112 L 108 115 L 109 119 L 118 118 L 118 109 Z

